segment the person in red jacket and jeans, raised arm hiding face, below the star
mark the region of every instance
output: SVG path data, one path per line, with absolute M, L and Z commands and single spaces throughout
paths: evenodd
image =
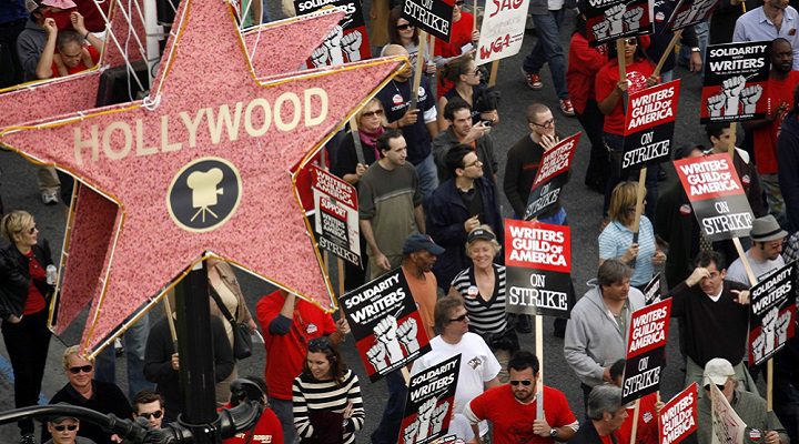
M 266 347 L 265 380 L 269 401 L 283 425 L 286 443 L 294 442 L 294 413 L 292 411 L 292 382 L 302 373 L 307 343 L 314 337 L 330 335 L 338 345 L 350 333 L 342 317 L 333 317 L 320 307 L 299 299 L 285 290 L 276 290 L 255 306 Z

